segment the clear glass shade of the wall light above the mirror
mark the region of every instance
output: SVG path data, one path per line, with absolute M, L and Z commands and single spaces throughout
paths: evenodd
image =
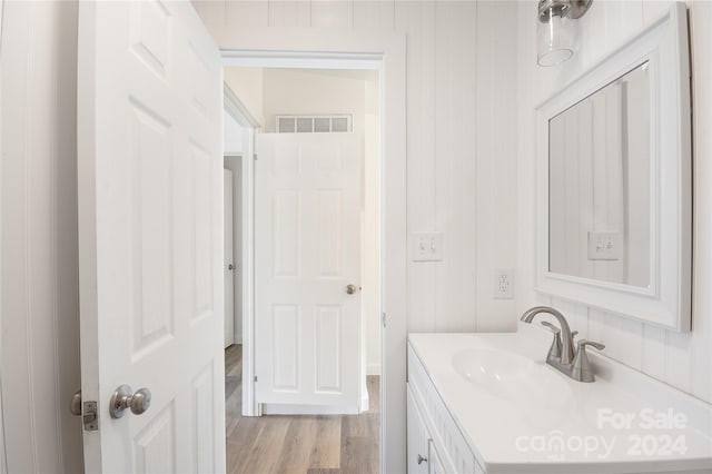
M 574 53 L 574 20 L 562 17 L 561 11 L 550 9 L 542 13 L 536 27 L 540 66 L 557 66 Z

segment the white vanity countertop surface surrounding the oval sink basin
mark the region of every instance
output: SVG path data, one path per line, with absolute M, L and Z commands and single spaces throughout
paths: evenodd
M 551 337 L 533 329 L 408 336 L 487 474 L 712 473 L 712 405 L 593 352 L 596 382 L 572 381 L 545 364 Z M 558 379 L 503 396 L 455 371 L 453 357 L 473 348 L 517 354 Z

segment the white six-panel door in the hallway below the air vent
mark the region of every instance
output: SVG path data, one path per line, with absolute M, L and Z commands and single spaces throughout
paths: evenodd
M 257 402 L 266 413 L 356 413 L 360 142 L 354 134 L 260 134 L 257 155 Z

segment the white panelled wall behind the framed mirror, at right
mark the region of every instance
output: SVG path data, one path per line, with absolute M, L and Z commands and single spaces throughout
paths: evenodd
M 706 402 L 712 402 L 712 2 L 690 1 L 694 110 L 693 332 L 678 334 L 534 292 L 534 107 L 668 7 L 662 1 L 594 1 L 581 19 L 581 51 L 560 68 L 536 66 L 536 2 L 518 7 L 518 255 L 517 309 L 536 303 L 563 309 L 582 337 L 604 353 Z

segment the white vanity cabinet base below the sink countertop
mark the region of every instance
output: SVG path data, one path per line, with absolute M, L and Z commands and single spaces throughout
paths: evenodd
M 411 345 L 407 412 L 409 474 L 484 474 Z

